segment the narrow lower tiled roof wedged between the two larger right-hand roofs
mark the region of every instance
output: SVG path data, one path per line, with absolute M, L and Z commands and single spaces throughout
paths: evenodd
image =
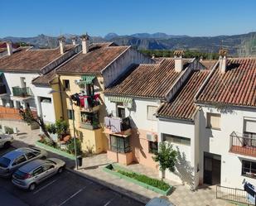
M 194 97 L 209 73 L 210 69 L 192 71 L 171 102 L 163 103 L 158 109 L 157 116 L 192 120 L 196 112 Z

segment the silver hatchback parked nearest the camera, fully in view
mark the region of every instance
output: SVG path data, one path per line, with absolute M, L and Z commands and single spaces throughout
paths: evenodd
M 12 183 L 21 189 L 34 190 L 37 184 L 64 169 L 65 161 L 56 158 L 32 160 L 12 175 Z

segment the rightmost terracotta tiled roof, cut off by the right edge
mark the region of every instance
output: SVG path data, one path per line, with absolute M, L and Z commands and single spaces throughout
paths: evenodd
M 197 102 L 256 106 L 256 59 L 228 59 L 227 71 L 215 69 Z

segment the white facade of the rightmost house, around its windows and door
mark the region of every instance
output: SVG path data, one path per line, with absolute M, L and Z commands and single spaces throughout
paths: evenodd
M 206 127 L 207 113 L 220 113 L 220 130 Z M 242 175 L 242 160 L 256 162 L 256 157 L 244 156 L 230 152 L 230 134 L 236 132 L 239 136 L 244 133 L 244 119 L 256 121 L 255 108 L 230 107 L 217 109 L 202 106 L 200 110 L 200 181 L 203 180 L 204 152 L 221 156 L 220 184 L 222 186 L 243 189 L 243 180 L 256 185 L 256 179 Z

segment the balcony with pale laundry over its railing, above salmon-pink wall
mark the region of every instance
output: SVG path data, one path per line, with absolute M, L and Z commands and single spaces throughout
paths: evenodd
M 120 136 L 128 136 L 131 134 L 131 124 L 129 117 L 104 117 L 104 132 Z

